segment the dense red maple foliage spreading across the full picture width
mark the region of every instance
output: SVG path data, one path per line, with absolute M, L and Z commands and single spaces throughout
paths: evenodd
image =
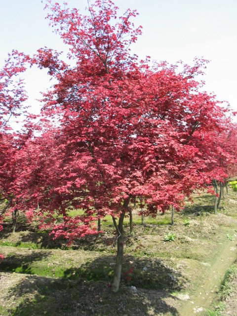
M 127 48 L 141 34 L 131 22 L 137 13 L 127 10 L 114 23 L 118 8 L 110 0 L 96 1 L 86 16 L 50 0 L 47 7 L 75 62 L 48 48 L 33 58 L 15 51 L 0 72 L 0 191 L 13 197 L 10 206 L 71 243 L 97 234 L 96 219 L 127 212 L 126 200 L 142 197 L 152 216 L 171 204 L 179 210 L 185 196 L 235 172 L 236 126 L 199 91 L 205 60 L 183 70 L 139 62 Z M 39 124 L 31 116 L 30 128 L 10 135 L 7 117 L 26 98 L 21 80 L 10 86 L 26 62 L 57 82 L 43 94 Z

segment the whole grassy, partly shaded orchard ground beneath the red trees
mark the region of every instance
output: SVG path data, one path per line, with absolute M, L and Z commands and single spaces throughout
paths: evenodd
M 125 221 L 124 265 L 117 294 L 110 291 L 116 255 L 110 218 L 102 222 L 102 237 L 86 237 L 71 247 L 65 240 L 52 240 L 48 232 L 39 232 L 24 218 L 16 234 L 5 222 L 0 236 L 0 253 L 5 255 L 0 264 L 0 315 L 201 315 L 217 295 L 232 254 L 233 261 L 236 255 L 236 194 L 225 197 L 216 216 L 213 205 L 214 197 L 194 195 L 194 203 L 187 201 L 184 211 L 175 214 L 174 226 L 170 212 L 147 217 L 147 225 L 142 226 L 135 209 L 134 236 L 129 236 L 128 218 Z M 175 240 L 165 242 L 167 233 L 175 234 Z M 214 289 L 209 288 L 212 283 Z M 137 292 L 131 291 L 131 285 Z M 199 293 L 204 292 L 209 294 L 204 296 L 203 311 L 195 313 Z M 182 306 L 190 309 L 185 312 Z

